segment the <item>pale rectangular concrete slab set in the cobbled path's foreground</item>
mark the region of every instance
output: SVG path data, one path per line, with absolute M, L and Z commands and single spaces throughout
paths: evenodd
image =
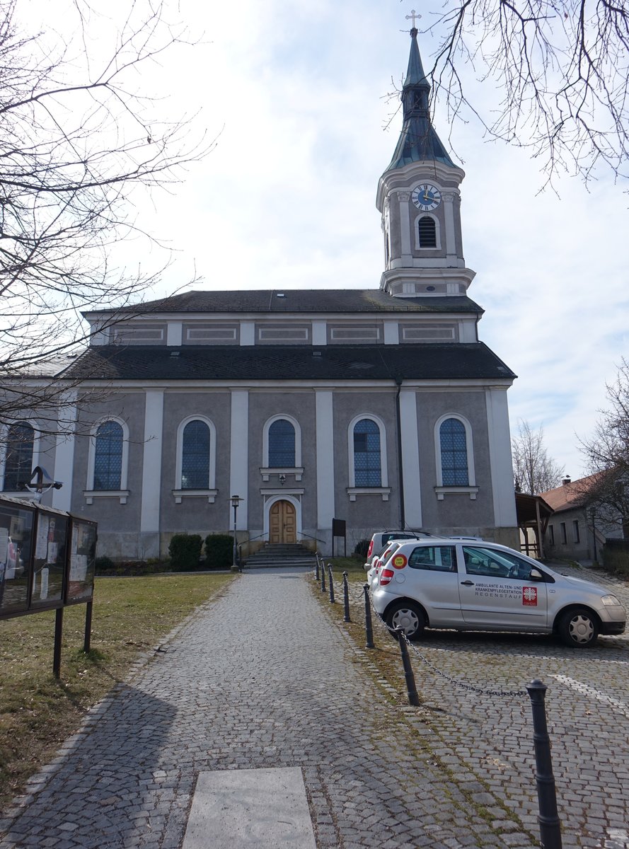
M 299 767 L 199 773 L 182 849 L 316 849 Z

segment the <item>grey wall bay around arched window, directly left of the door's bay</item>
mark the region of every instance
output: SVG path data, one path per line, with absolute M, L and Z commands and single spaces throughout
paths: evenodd
M 216 427 L 216 500 L 183 496 L 175 503 L 177 429 L 184 419 L 205 416 Z M 230 524 L 229 439 L 231 396 L 228 391 L 166 391 L 162 441 L 160 527 L 172 533 L 225 533 Z M 163 548 L 163 547 L 162 547 Z M 166 555 L 166 548 L 162 554 Z

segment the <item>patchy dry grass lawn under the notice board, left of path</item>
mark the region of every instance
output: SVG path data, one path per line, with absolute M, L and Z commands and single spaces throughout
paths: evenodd
M 53 678 L 54 611 L 0 621 L 0 809 L 54 756 L 138 654 L 151 649 L 232 575 L 97 578 L 92 650 L 85 604 L 66 608 L 61 678 Z

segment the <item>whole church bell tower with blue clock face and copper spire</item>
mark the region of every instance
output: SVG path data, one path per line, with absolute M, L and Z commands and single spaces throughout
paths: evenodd
M 465 172 L 452 162 L 430 122 L 430 83 L 417 32 L 413 15 L 402 132 L 376 200 L 385 236 L 380 289 L 405 298 L 461 296 L 475 276 L 463 259 L 458 187 Z

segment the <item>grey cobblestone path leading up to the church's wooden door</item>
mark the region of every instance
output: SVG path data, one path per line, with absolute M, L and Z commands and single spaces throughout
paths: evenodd
M 199 771 L 282 766 L 302 770 L 320 849 L 536 845 L 500 786 L 435 762 L 309 583 L 245 573 L 200 608 L 31 782 L 0 849 L 178 849 Z

